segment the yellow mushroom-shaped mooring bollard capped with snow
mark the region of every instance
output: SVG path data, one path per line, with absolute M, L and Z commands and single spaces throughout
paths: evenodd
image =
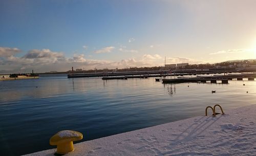
M 57 145 L 57 154 L 66 154 L 74 150 L 73 141 L 82 139 L 82 133 L 73 130 L 62 130 L 50 139 L 50 145 Z

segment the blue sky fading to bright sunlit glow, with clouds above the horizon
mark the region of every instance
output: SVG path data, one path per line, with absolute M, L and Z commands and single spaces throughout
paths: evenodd
M 0 71 L 256 58 L 254 0 L 0 0 Z

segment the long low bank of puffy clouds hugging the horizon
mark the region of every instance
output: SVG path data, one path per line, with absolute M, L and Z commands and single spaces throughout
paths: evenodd
M 7 48 L 12 49 L 12 48 Z M 129 51 L 129 50 L 127 50 Z M 8 55 L 9 56 L 9 55 Z M 5 73 L 29 73 L 49 71 L 68 71 L 74 66 L 74 69 L 115 69 L 126 67 L 141 66 L 159 66 L 163 65 L 163 58 L 158 55 L 145 54 L 140 58 L 127 58 L 120 61 L 86 59 L 83 54 L 75 54 L 73 57 L 67 58 L 61 52 L 53 52 L 49 49 L 30 50 L 22 57 L 0 57 L 0 69 L 5 69 Z M 167 58 L 166 63 L 201 63 L 189 58 L 174 57 Z M 1 73 L 0 70 L 0 73 Z M 7 72 L 6 72 L 7 71 Z M 9 72 L 8 72 L 9 71 Z

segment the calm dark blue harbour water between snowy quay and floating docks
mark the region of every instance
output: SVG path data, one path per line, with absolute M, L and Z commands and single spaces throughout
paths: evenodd
M 164 85 L 154 78 L 67 75 L 0 81 L 0 155 L 54 148 L 49 139 L 64 129 L 82 132 L 87 141 L 204 115 L 206 106 L 217 103 L 224 111 L 256 104 L 256 81 Z

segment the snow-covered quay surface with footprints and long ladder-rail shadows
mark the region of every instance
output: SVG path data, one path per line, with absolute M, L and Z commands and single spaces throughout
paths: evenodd
M 65 155 L 255 155 L 255 112 L 256 105 L 250 105 L 217 117 L 199 116 L 125 132 L 75 144 L 75 150 Z M 55 151 L 27 156 L 49 156 Z

